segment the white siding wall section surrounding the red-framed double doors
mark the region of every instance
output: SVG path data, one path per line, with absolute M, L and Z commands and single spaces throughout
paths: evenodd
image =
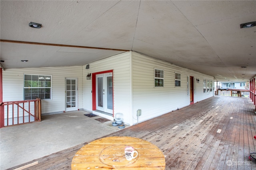
M 131 52 L 122 53 L 107 59 L 90 63 L 90 68 L 83 66 L 84 109 L 92 111 L 92 80 L 86 80 L 88 73 L 113 70 L 114 114 L 123 113 L 124 121 L 130 124 L 131 112 Z

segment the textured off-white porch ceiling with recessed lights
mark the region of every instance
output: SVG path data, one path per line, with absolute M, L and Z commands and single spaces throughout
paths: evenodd
M 240 28 L 240 23 L 256 21 L 256 1 L 1 0 L 0 6 L 5 69 L 84 65 L 125 52 L 113 50 L 122 49 L 218 81 L 256 75 L 256 27 Z M 31 21 L 42 23 L 42 28 L 29 27 Z

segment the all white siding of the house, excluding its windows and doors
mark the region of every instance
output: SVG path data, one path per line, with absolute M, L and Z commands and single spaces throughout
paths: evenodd
M 124 123 L 137 123 L 136 111 L 142 110 L 139 122 L 168 113 L 190 104 L 187 95 L 187 76 L 200 80 L 196 84 L 194 103 L 210 98 L 212 92 L 203 92 L 203 80 L 212 76 L 182 68 L 168 62 L 126 52 L 84 66 L 13 68 L 3 72 L 3 100 L 23 100 L 23 75 L 52 75 L 52 100 L 42 100 L 42 113 L 65 110 L 65 78 L 78 78 L 78 108 L 92 111 L 92 80 L 88 73 L 113 70 L 114 114 L 123 113 Z M 164 87 L 154 88 L 154 68 L 164 70 Z M 175 72 L 181 74 L 181 87 L 174 87 Z

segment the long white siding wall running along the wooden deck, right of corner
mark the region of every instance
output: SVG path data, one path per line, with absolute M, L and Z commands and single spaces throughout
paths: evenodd
M 190 96 L 187 95 L 187 76 L 194 76 L 200 80 L 200 83 L 196 83 L 194 102 L 214 95 L 214 90 L 203 92 L 203 79 L 213 81 L 212 76 L 138 53 L 132 53 L 132 68 L 133 124 L 137 123 L 138 109 L 142 110 L 142 115 L 139 117 L 140 122 L 190 105 Z M 154 88 L 154 68 L 164 70 L 164 87 Z M 181 87 L 174 86 L 175 72 L 181 74 Z

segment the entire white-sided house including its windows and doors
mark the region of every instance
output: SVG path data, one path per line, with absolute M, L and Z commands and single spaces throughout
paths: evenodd
M 42 115 L 122 113 L 128 125 L 214 96 L 214 77 L 132 51 L 82 66 L 10 68 L 2 78 L 3 101 L 39 97 Z

